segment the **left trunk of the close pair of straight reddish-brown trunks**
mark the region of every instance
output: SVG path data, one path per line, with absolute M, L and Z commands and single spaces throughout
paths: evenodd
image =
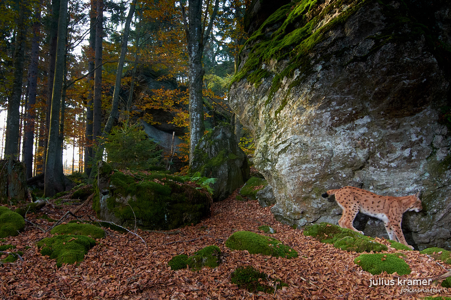
M 93 90 L 92 83 L 94 82 L 94 58 L 95 58 L 95 45 L 96 45 L 96 7 L 94 6 L 94 0 L 91 0 L 91 22 L 89 30 L 89 52 L 88 52 L 88 72 L 87 85 L 89 89 L 88 102 L 86 107 L 86 139 L 85 139 L 85 173 L 89 177 L 92 169 L 92 103 L 93 103 Z

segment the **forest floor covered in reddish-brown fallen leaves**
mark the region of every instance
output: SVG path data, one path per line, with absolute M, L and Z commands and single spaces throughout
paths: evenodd
M 53 201 L 53 200 L 52 200 Z M 54 223 L 39 216 L 44 213 L 60 219 L 77 205 L 46 205 L 42 213 L 27 215 L 27 219 L 41 228 Z M 72 203 L 72 202 L 68 202 Z M 67 203 L 66 203 L 67 204 Z M 78 203 L 79 205 L 79 203 Z M 86 206 L 78 214 L 81 218 L 94 215 Z M 74 219 L 70 217 L 67 221 Z M 230 250 L 225 246 L 235 231 L 248 230 L 262 233 L 258 226 L 269 225 L 276 233 L 269 234 L 298 251 L 295 259 L 275 258 Z M 0 299 L 419 299 L 425 296 L 450 296 L 451 291 L 440 286 L 440 292 L 430 292 L 433 286 L 401 286 L 400 279 L 433 278 L 446 269 L 418 251 L 402 252 L 412 273 L 398 277 L 382 273 L 372 275 L 354 264 L 356 252 L 346 252 L 330 244 L 306 237 L 300 229 L 276 221 L 269 208 L 257 201 L 237 201 L 230 197 L 215 203 L 213 217 L 201 223 L 174 230 L 175 234 L 137 233 L 146 242 L 131 233 L 108 231 L 79 264 L 64 264 L 58 268 L 55 260 L 42 256 L 37 242 L 50 233 L 26 224 L 23 233 L 7 237 L 3 244 L 13 244 L 23 252 L 23 260 L 0 267 Z M 377 242 L 389 243 L 383 239 Z M 171 270 L 168 261 L 179 254 L 193 255 L 205 246 L 219 246 L 224 253 L 216 268 L 200 271 Z M 29 246 L 29 247 L 27 247 Z M 5 255 L 0 258 L 4 258 Z M 230 282 L 231 273 L 239 266 L 253 266 L 260 272 L 279 278 L 288 287 L 275 288 L 268 293 L 253 294 L 239 289 Z M 449 268 L 449 266 L 447 266 Z M 371 280 L 393 279 L 394 285 L 369 287 Z M 415 288 L 425 291 L 416 293 Z M 438 296 L 437 295 L 437 296 Z

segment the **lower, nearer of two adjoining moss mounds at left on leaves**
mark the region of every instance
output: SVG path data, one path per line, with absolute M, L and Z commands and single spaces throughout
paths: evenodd
M 56 265 L 74 264 L 84 259 L 87 251 L 96 245 L 96 241 L 84 235 L 63 234 L 46 237 L 37 243 L 42 255 L 56 259 Z

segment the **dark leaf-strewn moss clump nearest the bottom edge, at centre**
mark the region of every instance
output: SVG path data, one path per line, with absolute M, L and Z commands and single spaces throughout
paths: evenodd
M 269 276 L 263 272 L 258 272 L 252 266 L 237 268 L 231 275 L 230 281 L 239 288 L 244 288 L 252 293 L 263 291 L 272 293 L 275 287 L 270 287 L 265 283 L 268 282 Z M 259 281 L 260 280 L 260 281 Z M 277 287 L 287 287 L 288 285 L 280 279 L 276 279 Z

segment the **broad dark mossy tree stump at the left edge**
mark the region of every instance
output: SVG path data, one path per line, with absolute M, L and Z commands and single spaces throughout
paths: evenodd
M 25 164 L 13 158 L 0 160 L 0 204 L 16 205 L 26 199 Z

